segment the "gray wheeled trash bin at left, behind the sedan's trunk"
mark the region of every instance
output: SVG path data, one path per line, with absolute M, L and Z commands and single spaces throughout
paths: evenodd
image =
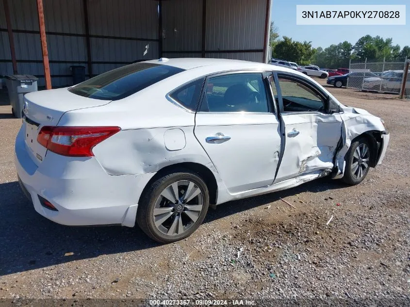
M 32 75 L 9 75 L 5 78 L 13 115 L 21 118 L 24 94 L 37 91 L 38 78 Z

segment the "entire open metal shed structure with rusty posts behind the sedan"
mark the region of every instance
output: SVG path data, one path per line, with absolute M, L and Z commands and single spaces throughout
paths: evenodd
M 88 78 L 160 57 L 268 58 L 271 0 L 0 4 L 0 75 L 31 74 L 39 86 L 51 86 L 48 76 L 53 87 L 71 85 L 71 65 L 85 66 Z

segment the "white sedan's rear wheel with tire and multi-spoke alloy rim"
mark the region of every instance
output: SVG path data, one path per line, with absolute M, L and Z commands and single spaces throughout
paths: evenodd
M 175 171 L 154 181 L 141 197 L 137 223 L 157 242 L 176 242 L 197 230 L 208 207 L 208 187 L 199 174 Z

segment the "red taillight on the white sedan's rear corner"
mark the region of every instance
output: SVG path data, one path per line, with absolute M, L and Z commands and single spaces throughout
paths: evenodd
M 41 128 L 37 142 L 50 151 L 68 157 L 92 157 L 98 143 L 114 135 L 119 127 L 50 127 Z

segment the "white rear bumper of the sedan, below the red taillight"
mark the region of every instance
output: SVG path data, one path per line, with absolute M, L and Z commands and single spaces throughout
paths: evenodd
M 138 199 L 155 173 L 108 175 L 95 157 L 71 158 L 48 152 L 40 165 L 29 156 L 21 130 L 15 165 L 22 190 L 44 217 L 63 225 L 134 226 Z M 47 199 L 58 211 L 43 207 Z

